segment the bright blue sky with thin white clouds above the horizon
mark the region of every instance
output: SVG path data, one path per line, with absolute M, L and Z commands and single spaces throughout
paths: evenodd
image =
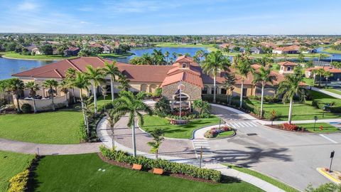
M 341 34 L 338 0 L 0 0 L 0 33 Z

